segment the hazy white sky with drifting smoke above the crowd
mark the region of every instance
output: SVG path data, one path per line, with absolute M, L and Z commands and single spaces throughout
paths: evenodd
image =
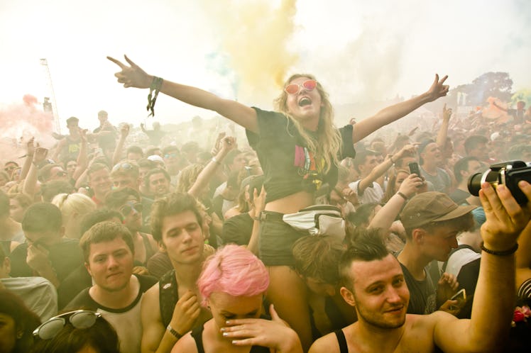
M 106 55 L 248 105 L 270 108 L 278 82 L 315 74 L 332 103 L 410 96 L 435 72 L 469 83 L 509 72 L 531 87 L 527 0 L 0 0 L 0 105 L 48 96 L 60 118 L 97 125 L 146 118 L 147 91 L 124 89 Z M 215 114 L 159 96 L 163 122 Z M 65 123 L 62 123 L 64 128 Z

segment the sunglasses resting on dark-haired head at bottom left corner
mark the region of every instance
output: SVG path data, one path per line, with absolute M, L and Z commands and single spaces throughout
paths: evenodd
M 67 319 L 75 328 L 85 329 L 94 326 L 96 320 L 101 317 L 100 313 L 91 310 L 70 311 L 50 318 L 33 331 L 33 336 L 41 340 L 51 340 L 65 327 Z

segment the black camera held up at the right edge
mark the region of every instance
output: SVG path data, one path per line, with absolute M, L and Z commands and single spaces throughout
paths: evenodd
M 518 187 L 518 181 L 520 180 L 531 183 L 531 163 L 522 161 L 496 163 L 492 164 L 491 169 L 486 172 L 476 173 L 470 177 L 469 191 L 473 196 L 478 196 L 481 184 L 485 181 L 494 188 L 502 184 L 508 187 L 510 193 L 513 194 L 513 197 L 520 205 L 524 205 L 527 203 L 527 197 Z

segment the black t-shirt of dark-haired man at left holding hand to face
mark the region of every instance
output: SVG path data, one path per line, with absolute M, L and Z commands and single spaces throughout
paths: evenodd
M 11 252 L 11 277 L 31 277 L 35 274 L 33 269 L 26 263 L 28 255 L 28 243 L 24 242 Z M 48 259 L 59 281 L 65 279 L 70 272 L 83 264 L 83 253 L 79 240 L 61 238 L 57 243 L 48 247 Z

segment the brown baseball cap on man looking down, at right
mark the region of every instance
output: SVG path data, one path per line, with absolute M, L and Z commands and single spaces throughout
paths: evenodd
M 429 191 L 413 197 L 400 213 L 400 220 L 404 228 L 411 229 L 458 218 L 474 208 L 476 206 L 458 206 L 447 194 Z

